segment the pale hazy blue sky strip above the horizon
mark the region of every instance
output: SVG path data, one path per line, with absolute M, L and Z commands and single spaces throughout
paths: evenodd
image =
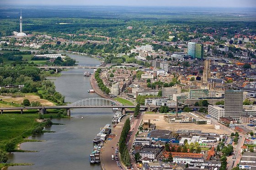
M 256 0 L 0 0 L 0 5 L 256 7 Z

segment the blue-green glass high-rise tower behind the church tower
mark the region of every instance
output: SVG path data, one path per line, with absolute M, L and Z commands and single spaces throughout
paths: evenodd
M 193 59 L 203 59 L 203 45 L 195 42 L 188 42 L 187 55 L 192 56 Z

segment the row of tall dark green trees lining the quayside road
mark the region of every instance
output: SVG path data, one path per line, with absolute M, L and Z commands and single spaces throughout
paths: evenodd
M 119 152 L 121 154 L 122 162 L 124 165 L 131 166 L 130 155 L 126 145 L 127 135 L 131 129 L 130 120 L 127 119 L 123 125 L 123 130 L 119 140 Z

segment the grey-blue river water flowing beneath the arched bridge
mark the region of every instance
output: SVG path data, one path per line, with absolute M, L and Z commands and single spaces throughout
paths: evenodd
M 100 61 L 81 55 L 69 54 L 79 65 L 100 65 Z M 91 88 L 90 78 L 83 72 L 92 69 L 70 69 L 63 71 L 55 79 L 56 90 L 65 96 L 66 102 L 75 102 L 89 97 L 98 97 L 87 92 Z M 84 119 L 81 119 L 81 116 Z M 29 139 L 44 142 L 27 142 L 21 144 L 22 150 L 38 150 L 35 153 L 13 153 L 8 162 L 32 163 L 31 166 L 13 166 L 8 170 L 100 170 L 100 165 L 89 163 L 89 154 L 93 149 L 92 140 L 104 125 L 111 123 L 112 109 L 75 109 L 71 110 L 71 119 L 54 119 L 46 130 L 56 133 L 44 133 Z

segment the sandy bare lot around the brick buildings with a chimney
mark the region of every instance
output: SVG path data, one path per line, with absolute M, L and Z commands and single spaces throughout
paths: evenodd
M 202 132 L 212 132 L 217 134 L 224 134 L 223 130 L 214 129 L 214 125 L 195 125 L 193 123 L 167 123 L 164 120 L 164 115 L 159 114 L 144 114 L 142 122 L 148 122 L 156 125 L 156 129 L 159 130 L 202 130 Z M 155 120 L 154 120 L 155 119 Z

